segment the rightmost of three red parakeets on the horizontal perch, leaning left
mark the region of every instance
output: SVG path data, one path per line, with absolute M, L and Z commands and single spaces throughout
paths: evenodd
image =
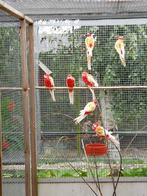
M 86 71 L 83 71 L 82 73 L 82 80 L 89 87 L 89 90 L 92 93 L 92 99 L 94 100 L 95 93 L 94 90 L 91 89 L 91 87 L 98 87 L 97 81 L 94 79 L 94 77 L 91 74 L 87 73 Z

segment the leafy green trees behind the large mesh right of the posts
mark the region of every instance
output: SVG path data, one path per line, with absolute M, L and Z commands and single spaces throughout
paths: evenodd
M 100 85 L 146 85 L 147 27 L 145 25 L 82 26 L 79 29 L 73 28 L 72 33 L 67 34 L 68 46 L 64 45 L 62 49 L 61 46 L 57 47 L 55 53 L 51 50 L 40 53 L 39 58 L 44 63 L 48 62 L 47 64 L 53 71 L 57 85 L 65 86 L 66 75 L 70 72 L 76 78 L 76 85 L 81 86 L 79 78 L 82 71 L 87 69 L 84 43 L 87 32 L 93 32 L 96 37 L 92 73 L 98 79 Z M 121 64 L 114 48 L 117 35 L 124 35 L 125 37 L 126 67 Z M 117 125 L 120 128 L 125 128 L 125 124 L 127 124 L 126 128 L 131 128 L 134 131 L 134 127 L 132 127 L 134 122 L 141 120 L 145 116 L 146 91 L 123 89 L 109 91 L 109 96 Z M 83 99 L 82 93 L 79 93 L 79 97 Z M 63 101 L 63 97 L 60 97 L 60 99 Z M 80 101 L 80 105 L 82 103 L 83 101 Z M 76 104 L 78 105 L 78 103 Z M 68 113 L 69 106 L 64 111 Z M 73 110 L 75 113 L 78 113 L 78 111 L 79 109 Z

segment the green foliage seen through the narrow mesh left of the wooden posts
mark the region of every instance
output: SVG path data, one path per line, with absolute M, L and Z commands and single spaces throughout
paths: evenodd
M 19 27 L 15 23 L 0 27 L 0 86 L 21 85 Z M 19 113 L 19 95 L 16 91 L 1 92 L 3 150 L 22 149 L 22 119 Z M 17 100 L 17 101 L 16 101 Z M 19 111 L 19 112 L 18 112 Z

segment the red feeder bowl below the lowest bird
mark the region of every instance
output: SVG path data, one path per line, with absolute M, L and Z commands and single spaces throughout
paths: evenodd
M 85 146 L 87 156 L 102 156 L 107 154 L 107 150 L 107 146 L 100 143 L 86 144 Z

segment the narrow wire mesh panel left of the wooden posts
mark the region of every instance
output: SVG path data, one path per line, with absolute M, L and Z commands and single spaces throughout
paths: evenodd
M 24 122 L 19 20 L 1 11 L 0 16 L 0 115 L 2 131 L 2 180 L 24 182 Z M 19 183 L 19 181 L 17 181 Z M 10 190 L 3 189 L 3 195 Z M 22 195 L 25 184 L 22 183 Z

